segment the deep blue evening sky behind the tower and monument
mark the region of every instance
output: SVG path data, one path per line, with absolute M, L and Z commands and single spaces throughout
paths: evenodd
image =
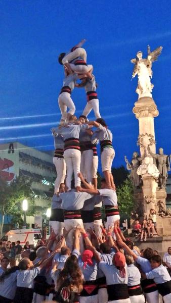
M 138 95 L 137 78 L 131 81 L 138 51 L 147 54 L 163 46 L 153 64 L 153 98 L 157 149 L 171 153 L 171 14 L 169 1 L 130 0 L 1 0 L 1 112 L 0 143 L 20 141 L 53 149 L 50 128 L 60 118 L 58 94 L 63 68 L 58 55 L 82 38 L 99 84 L 100 111 L 113 132 L 113 166 L 130 159 L 138 136 L 132 113 Z M 73 91 L 76 114 L 86 105 L 84 89 Z M 89 116 L 94 119 L 94 114 Z

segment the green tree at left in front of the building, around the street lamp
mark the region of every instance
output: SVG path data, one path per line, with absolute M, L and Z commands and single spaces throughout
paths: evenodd
M 2 216 L 21 216 L 23 214 L 21 203 L 24 198 L 28 199 L 27 215 L 34 215 L 35 202 L 31 183 L 30 179 L 21 176 L 16 177 L 10 183 L 0 178 L 0 213 Z

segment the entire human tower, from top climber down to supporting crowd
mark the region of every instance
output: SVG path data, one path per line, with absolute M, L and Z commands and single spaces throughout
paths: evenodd
M 164 303 L 170 303 L 168 263 L 165 263 L 167 268 L 163 266 L 161 257 L 150 247 L 140 252 L 119 228 L 117 195 L 111 174 L 112 133 L 99 113 L 93 67 L 87 64 L 86 50 L 81 47 L 83 42 L 59 57 L 65 78 L 58 99 L 62 117 L 59 126 L 52 129 L 57 178 L 52 198 L 51 235 L 36 251 L 23 251 L 18 266 L 4 270 L 0 276 L 0 303 L 44 300 L 144 303 L 145 299 L 148 303 L 160 303 L 159 294 Z M 77 83 L 77 79 L 81 82 Z M 74 87 L 84 87 L 87 94 L 87 106 L 78 119 L 71 99 Z M 96 121 L 88 121 L 92 109 Z M 99 141 L 104 174 L 101 189 L 97 188 Z

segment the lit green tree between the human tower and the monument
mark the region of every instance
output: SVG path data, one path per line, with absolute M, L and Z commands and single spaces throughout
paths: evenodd
M 120 213 L 130 217 L 134 209 L 134 188 L 129 178 L 117 188 L 117 197 Z

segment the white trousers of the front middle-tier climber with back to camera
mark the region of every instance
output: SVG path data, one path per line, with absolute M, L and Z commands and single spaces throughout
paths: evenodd
M 72 174 L 74 173 L 75 187 L 80 186 L 81 180 L 78 177 L 80 172 L 81 153 L 79 150 L 69 148 L 64 151 L 64 159 L 67 167 L 66 186 L 71 189 Z

